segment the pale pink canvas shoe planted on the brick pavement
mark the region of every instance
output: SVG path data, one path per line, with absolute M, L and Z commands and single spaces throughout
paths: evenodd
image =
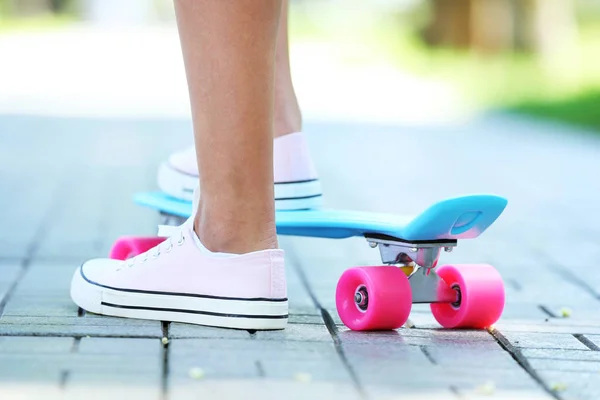
M 129 260 L 95 259 L 75 271 L 71 298 L 96 314 L 238 329 L 283 329 L 284 252 L 212 253 L 193 218 Z

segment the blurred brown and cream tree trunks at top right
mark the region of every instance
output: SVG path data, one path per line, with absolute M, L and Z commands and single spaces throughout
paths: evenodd
M 429 0 L 432 46 L 549 54 L 576 40 L 573 0 Z

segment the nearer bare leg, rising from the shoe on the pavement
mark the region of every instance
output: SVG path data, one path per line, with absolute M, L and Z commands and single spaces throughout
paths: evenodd
M 211 251 L 276 248 L 275 46 L 281 1 L 177 0 L 202 197 L 194 230 Z

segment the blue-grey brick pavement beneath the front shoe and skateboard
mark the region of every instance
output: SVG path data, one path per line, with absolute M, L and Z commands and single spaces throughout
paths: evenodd
M 413 308 L 412 329 L 348 331 L 337 279 L 379 263 L 361 239 L 281 238 L 291 314 L 282 332 L 173 323 L 164 345 L 160 322 L 80 316 L 73 271 L 119 235 L 155 231 L 156 215 L 130 197 L 154 187 L 156 165 L 189 142 L 189 123 L 4 116 L 0 192 L 11 195 L 0 196 L 0 220 L 12 229 L 0 233 L 0 397 L 15 384 L 48 399 L 598 397 L 597 139 L 504 117 L 427 130 L 309 123 L 307 132 L 327 206 L 406 214 L 465 192 L 509 198 L 489 232 L 442 259 L 500 270 L 505 343 L 439 329 L 426 305 Z M 31 143 L 39 150 L 24 159 Z

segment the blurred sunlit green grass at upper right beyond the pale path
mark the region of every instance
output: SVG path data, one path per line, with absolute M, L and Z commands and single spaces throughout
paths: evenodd
M 600 21 L 581 28 L 576 47 L 551 57 L 483 55 L 427 48 L 415 34 L 418 15 L 375 14 L 367 7 L 315 13 L 311 5 L 292 7 L 292 40 L 327 45 L 349 64 L 387 63 L 441 80 L 474 110 L 509 110 L 600 132 Z

